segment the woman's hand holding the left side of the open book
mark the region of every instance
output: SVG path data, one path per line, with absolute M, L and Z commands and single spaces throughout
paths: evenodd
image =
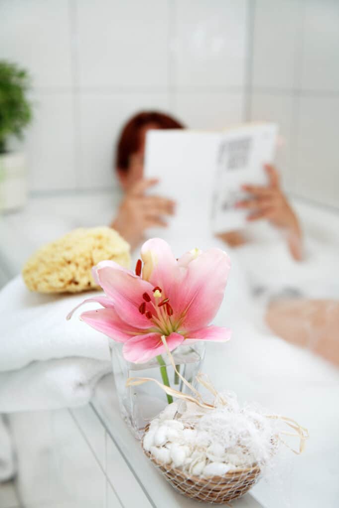
M 139 180 L 126 194 L 111 227 L 133 248 L 142 241 L 145 229 L 166 227 L 164 215 L 174 214 L 174 201 L 160 196 L 145 196 L 145 191 L 158 183 L 156 179 Z

